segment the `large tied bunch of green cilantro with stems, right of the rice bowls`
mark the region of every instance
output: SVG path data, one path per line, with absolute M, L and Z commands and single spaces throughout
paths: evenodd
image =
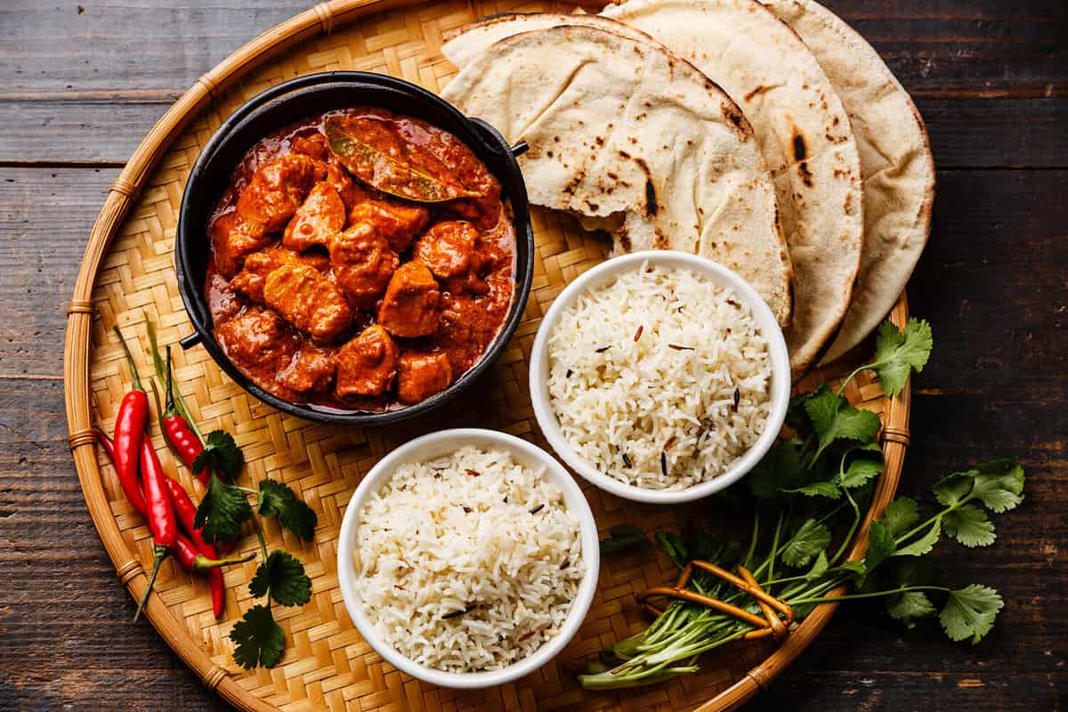
M 864 557 L 846 559 L 883 460 L 878 416 L 850 405 L 842 392 L 857 374 L 871 369 L 883 393 L 897 395 L 909 375 L 926 365 L 931 343 L 926 321 L 910 319 L 904 331 L 888 321 L 879 329 L 871 363 L 850 374 L 837 391 L 823 385 L 791 400 L 789 437 L 776 442 L 745 479 L 756 505 L 745 547 L 703 532 L 656 532 L 658 547 L 680 569 L 698 558 L 727 569 L 744 565 L 798 618 L 823 602 L 882 599 L 886 613 L 907 628 L 937 617 L 951 639 L 981 640 L 1004 605 L 1001 596 L 978 584 L 936 585 L 929 554 L 945 538 L 969 548 L 994 542 L 990 515 L 1023 501 L 1024 474 L 1015 462 L 993 460 L 947 475 L 933 488 L 933 513 L 922 513 L 915 500 L 894 500 L 869 524 Z M 629 548 L 625 541 L 645 541 L 635 529 L 614 528 L 601 542 L 602 552 Z M 829 596 L 843 586 L 851 590 Z M 703 572 L 691 577 L 689 587 L 757 612 L 751 597 Z M 697 669 L 697 654 L 750 630 L 749 623 L 725 614 L 676 601 L 645 631 L 601 651 L 580 682 L 591 689 L 629 687 L 685 675 Z

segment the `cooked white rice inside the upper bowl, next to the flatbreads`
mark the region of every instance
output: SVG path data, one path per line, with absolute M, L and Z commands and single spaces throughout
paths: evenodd
M 768 344 L 731 289 L 691 270 L 643 265 L 582 295 L 548 350 L 567 443 L 630 485 L 679 490 L 721 475 L 767 423 Z

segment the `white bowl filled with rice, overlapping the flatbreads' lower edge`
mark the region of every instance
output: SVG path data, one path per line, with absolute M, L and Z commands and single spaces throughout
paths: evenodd
M 768 452 L 789 405 L 774 315 L 741 276 L 674 251 L 609 259 L 549 308 L 531 353 L 541 431 L 572 470 L 628 500 L 719 492 Z

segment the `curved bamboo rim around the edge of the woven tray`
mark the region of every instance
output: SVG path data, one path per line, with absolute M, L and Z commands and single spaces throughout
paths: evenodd
M 285 49 L 320 33 L 328 35 L 346 22 L 372 13 L 419 4 L 425 4 L 424 0 L 330 0 L 316 4 L 267 30 L 200 77 L 168 109 L 141 141 L 108 191 L 90 233 L 74 294 L 67 304 L 63 382 L 68 440 L 82 493 L 94 526 L 115 566 L 116 575 L 135 600 L 144 592 L 147 574 L 138 556 L 129 550 L 121 536 L 104 492 L 95 447 L 87 447 L 94 445 L 95 442 L 89 379 L 91 325 L 94 314 L 93 289 L 112 239 L 137 202 L 145 181 L 174 139 L 238 79 Z M 584 0 L 577 4 L 599 6 L 602 3 Z M 899 328 L 904 327 L 908 319 L 908 303 L 904 292 L 891 312 L 890 318 Z M 850 558 L 863 556 L 867 549 L 868 524 L 882 513 L 897 489 L 909 443 L 910 401 L 911 383 L 907 384 L 898 396 L 886 401 L 885 424 L 881 436 L 886 465 L 860 534 L 850 550 Z M 831 591 L 830 595 L 838 592 L 842 592 L 842 589 Z M 837 603 L 818 605 L 768 658 L 750 669 L 731 687 L 701 705 L 697 712 L 737 709 L 761 690 L 767 689 L 771 681 L 815 639 L 830 621 L 837 605 Z M 208 690 L 218 692 L 226 701 L 240 710 L 278 712 L 277 707 L 255 697 L 237 684 L 236 679 L 229 676 L 224 668 L 216 665 L 158 595 L 150 597 L 146 617 L 167 645 L 197 673 Z

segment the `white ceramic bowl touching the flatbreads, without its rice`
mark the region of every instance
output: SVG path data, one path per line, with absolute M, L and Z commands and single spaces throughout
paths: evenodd
M 586 291 L 607 286 L 619 274 L 641 269 L 645 263 L 665 268 L 687 268 L 733 290 L 750 307 L 760 335 L 768 343 L 768 353 L 771 361 L 771 400 L 764 432 L 744 455 L 735 460 L 726 472 L 708 481 L 682 490 L 644 489 L 595 470 L 567 444 L 549 398 L 549 338 L 556 325 L 560 323 L 563 312 L 574 306 L 579 297 Z M 549 307 L 549 312 L 541 319 L 541 326 L 538 327 L 537 336 L 534 338 L 534 349 L 531 352 L 530 363 L 531 400 L 534 405 L 534 415 L 552 448 L 568 466 L 592 484 L 612 494 L 637 502 L 654 504 L 690 502 L 719 492 L 738 481 L 753 469 L 753 465 L 759 462 L 768 448 L 771 447 L 783 427 L 786 409 L 789 406 L 790 360 L 786 351 L 783 332 L 779 328 L 779 322 L 771 308 L 756 294 L 756 290 L 736 272 L 711 259 L 686 252 L 670 250 L 635 252 L 614 257 L 583 272 L 556 297 L 552 306 Z

